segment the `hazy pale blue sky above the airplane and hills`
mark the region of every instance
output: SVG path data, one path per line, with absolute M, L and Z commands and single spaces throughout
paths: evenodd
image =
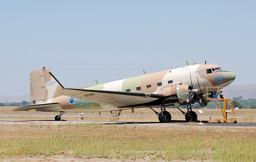
M 207 60 L 253 84 L 255 51 L 256 1 L 0 1 L 0 95 L 43 66 L 75 88 Z

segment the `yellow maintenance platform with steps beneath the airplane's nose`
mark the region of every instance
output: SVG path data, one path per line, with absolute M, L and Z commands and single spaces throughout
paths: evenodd
M 209 90 L 214 90 L 216 89 L 216 94 L 213 94 L 213 96 L 209 96 L 211 95 L 211 93 L 209 93 Z M 221 91 L 224 90 L 224 95 L 221 94 Z M 210 100 L 212 101 L 219 109 L 221 109 L 221 114 L 222 114 L 222 119 L 216 119 L 216 120 L 212 120 L 210 117 L 210 123 L 211 121 L 217 121 L 217 123 L 221 123 L 221 121 L 223 121 L 224 123 L 227 123 L 227 121 L 231 121 L 231 123 L 237 123 L 237 118 L 236 118 L 236 114 L 235 114 L 235 108 L 234 108 L 234 104 L 232 102 L 231 99 L 229 98 L 225 98 L 225 87 L 206 87 L 206 100 Z M 223 102 L 223 105 L 222 105 Z M 229 109 L 227 109 L 229 105 Z M 233 117 L 231 117 L 230 119 L 227 118 L 228 113 L 231 113 L 233 115 Z

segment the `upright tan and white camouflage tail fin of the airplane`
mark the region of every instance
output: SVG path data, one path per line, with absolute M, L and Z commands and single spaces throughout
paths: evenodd
M 64 87 L 45 67 L 30 73 L 30 98 L 32 104 L 51 102 L 55 97 L 60 96 L 58 91 L 62 88 Z

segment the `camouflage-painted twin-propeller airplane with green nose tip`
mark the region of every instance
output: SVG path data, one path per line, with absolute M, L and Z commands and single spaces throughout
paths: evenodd
M 65 88 L 45 67 L 30 73 L 31 105 L 21 106 L 14 111 L 60 112 L 55 116 L 59 121 L 65 112 L 106 112 L 148 107 L 152 109 L 160 123 L 169 123 L 171 114 L 166 106 L 174 106 L 185 116 L 186 121 L 197 121 L 197 114 L 191 104 L 198 102 L 207 106 L 206 87 L 226 87 L 236 75 L 211 64 L 189 64 L 187 66 L 121 79 L 97 85 Z M 208 95 L 216 92 L 208 89 Z M 223 98 L 222 95 L 220 97 Z M 179 107 L 187 106 L 187 112 Z M 157 112 L 153 107 L 160 107 Z

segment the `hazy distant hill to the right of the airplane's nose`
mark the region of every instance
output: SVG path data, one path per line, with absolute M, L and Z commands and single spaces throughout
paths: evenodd
M 243 99 L 256 98 L 256 84 L 228 85 L 226 87 L 226 98 L 242 96 Z

